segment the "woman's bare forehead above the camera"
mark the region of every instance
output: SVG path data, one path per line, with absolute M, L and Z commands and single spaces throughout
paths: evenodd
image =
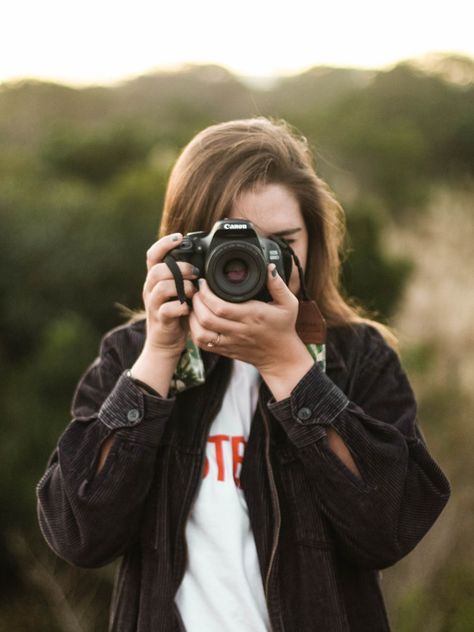
M 265 184 L 241 193 L 232 206 L 231 218 L 246 218 L 267 232 L 304 225 L 295 195 L 281 184 Z

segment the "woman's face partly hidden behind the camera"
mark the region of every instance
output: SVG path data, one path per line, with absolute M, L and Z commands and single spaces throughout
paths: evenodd
M 306 268 L 308 255 L 308 231 L 298 200 L 283 184 L 265 184 L 244 191 L 237 198 L 230 219 L 248 219 L 256 230 L 267 237 L 284 237 Z M 300 288 L 298 270 L 293 264 L 289 288 L 297 294 Z

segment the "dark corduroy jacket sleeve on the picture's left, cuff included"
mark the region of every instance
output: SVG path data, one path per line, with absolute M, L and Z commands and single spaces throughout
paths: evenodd
M 174 403 L 146 393 L 127 376 L 116 336 L 104 336 L 99 357 L 79 381 L 72 420 L 37 485 L 43 536 L 77 566 L 105 565 L 136 537 Z M 97 474 L 102 444 L 112 433 L 112 448 Z

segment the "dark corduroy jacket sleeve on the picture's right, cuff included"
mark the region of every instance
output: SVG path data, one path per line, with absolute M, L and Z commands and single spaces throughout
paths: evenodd
M 270 400 L 268 408 L 345 554 L 381 569 L 421 540 L 448 501 L 450 485 L 418 428 L 415 397 L 397 354 L 371 330 L 375 342 L 354 377 L 352 399 L 314 365 L 288 398 Z M 345 442 L 362 479 L 329 447 L 328 427 Z

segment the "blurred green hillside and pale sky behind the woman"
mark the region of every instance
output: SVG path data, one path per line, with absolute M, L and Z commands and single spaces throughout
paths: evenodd
M 255 115 L 309 139 L 346 210 L 344 288 L 396 328 L 452 482 L 426 538 L 383 572 L 393 630 L 474 630 L 473 16 L 459 0 L 449 13 L 411 4 L 4 11 L 1 631 L 107 627 L 113 565 L 81 571 L 50 553 L 35 486 L 101 336 L 124 321 L 117 304 L 141 307 L 180 149 Z

